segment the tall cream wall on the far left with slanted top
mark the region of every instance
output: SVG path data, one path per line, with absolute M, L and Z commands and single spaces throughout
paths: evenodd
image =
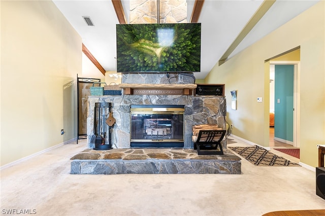
M 77 136 L 76 77 L 82 73 L 82 41 L 51 1 L 0 4 L 5 165 Z

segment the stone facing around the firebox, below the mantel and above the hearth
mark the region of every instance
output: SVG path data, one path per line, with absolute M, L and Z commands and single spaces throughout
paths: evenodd
M 87 135 L 88 148 L 93 135 L 93 107 L 95 102 L 112 102 L 113 117 L 116 119 L 112 129 L 113 148 L 130 148 L 130 105 L 131 104 L 174 104 L 185 105 L 184 148 L 193 148 L 192 125 L 217 124 L 225 129 L 225 99 L 222 96 L 192 95 L 123 95 L 89 96 Z M 107 133 L 108 134 L 108 133 Z M 226 148 L 225 142 L 222 143 Z

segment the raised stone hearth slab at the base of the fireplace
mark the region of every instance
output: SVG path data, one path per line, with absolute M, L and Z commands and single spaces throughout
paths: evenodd
M 241 174 L 241 159 L 191 149 L 87 149 L 71 158 L 71 174 Z

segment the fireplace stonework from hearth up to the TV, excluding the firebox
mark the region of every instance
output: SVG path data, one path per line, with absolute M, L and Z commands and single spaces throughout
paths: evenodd
M 198 155 L 193 150 L 192 126 L 216 124 L 225 130 L 225 97 L 194 95 L 192 74 L 124 73 L 120 96 L 89 96 L 87 118 L 87 148 L 71 158 L 72 174 L 241 174 L 241 159 L 227 150 L 225 139 L 221 141 L 223 155 Z M 138 84 L 138 85 L 135 85 Z M 143 85 L 148 84 L 148 85 Z M 170 90 L 180 88 L 177 94 L 152 94 L 146 88 Z M 171 86 L 167 86 L 171 85 Z M 173 85 L 176 84 L 176 85 Z M 185 88 L 183 88 L 185 86 Z M 134 94 L 134 89 L 146 90 Z M 185 89 L 185 90 L 184 90 Z M 112 128 L 113 149 L 93 150 L 94 104 L 112 103 L 116 122 Z M 131 105 L 182 105 L 184 106 L 184 148 L 131 148 Z

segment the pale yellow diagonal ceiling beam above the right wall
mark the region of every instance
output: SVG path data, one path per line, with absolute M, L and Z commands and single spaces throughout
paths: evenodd
M 252 30 L 256 23 L 262 19 L 262 17 L 268 12 L 276 0 L 264 0 L 261 6 L 257 9 L 255 14 L 247 22 L 243 30 L 239 33 L 235 41 L 230 45 L 227 51 L 219 59 L 219 66 L 223 64 L 230 54 L 236 49 L 236 47 L 244 40 L 246 35 Z

